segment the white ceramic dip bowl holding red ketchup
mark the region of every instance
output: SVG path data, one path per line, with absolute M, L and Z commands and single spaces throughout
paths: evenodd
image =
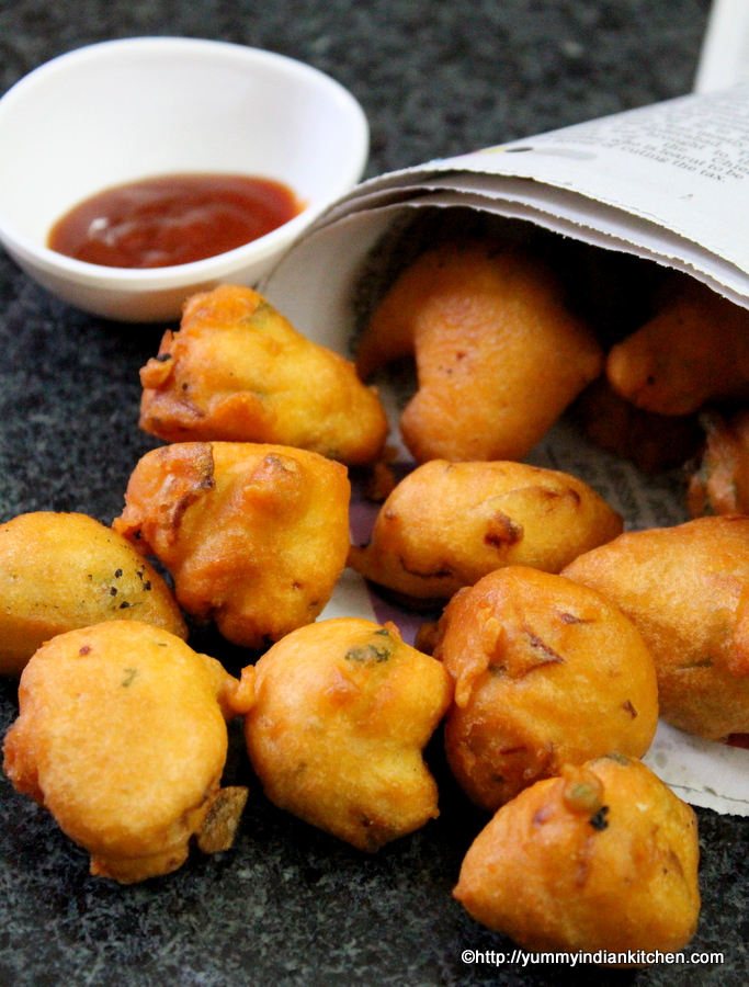
M 361 106 L 310 66 L 223 42 L 104 42 L 46 63 L 0 100 L 0 241 L 72 305 L 173 319 L 195 291 L 256 284 L 356 183 L 367 151 Z M 275 179 L 307 205 L 251 243 L 171 268 L 104 268 L 46 247 L 53 224 L 90 195 L 179 172 Z

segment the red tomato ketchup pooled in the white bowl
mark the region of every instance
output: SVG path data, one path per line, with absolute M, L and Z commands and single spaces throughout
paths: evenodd
M 170 174 L 107 189 L 66 213 L 47 246 L 105 268 L 170 268 L 257 240 L 304 205 L 281 182 Z

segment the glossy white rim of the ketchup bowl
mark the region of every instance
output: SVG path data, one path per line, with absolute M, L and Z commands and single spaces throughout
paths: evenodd
M 57 276 L 67 275 L 69 280 L 78 284 L 105 285 L 109 288 L 120 288 L 125 292 L 181 287 L 197 281 L 215 280 L 249 264 L 260 263 L 275 254 L 280 249 L 291 246 L 292 241 L 314 223 L 321 213 L 341 195 L 349 192 L 361 179 L 368 157 L 370 127 L 364 110 L 353 93 L 338 80 L 307 63 L 298 61 L 277 52 L 269 52 L 264 48 L 254 48 L 249 45 L 235 44 L 234 42 L 154 35 L 113 38 L 73 48 L 32 69 L 0 98 L 0 129 L 3 111 L 12 107 L 19 100 L 26 99 L 30 95 L 30 90 L 33 91 L 36 87 L 48 83 L 49 77 L 54 78 L 58 72 L 65 71 L 70 64 L 105 58 L 114 49 L 137 48 L 146 50 L 168 48 L 172 52 L 182 49 L 198 54 L 219 54 L 235 61 L 251 61 L 254 65 L 260 63 L 272 69 L 281 69 L 284 72 L 309 80 L 317 87 L 327 89 L 328 93 L 344 107 L 350 118 L 352 140 L 349 167 L 341 172 L 338 181 L 331 186 L 329 195 L 317 203 L 306 206 L 295 217 L 263 237 L 250 240 L 249 243 L 243 243 L 241 247 L 215 254 L 214 257 L 166 268 L 107 268 L 102 264 L 91 264 L 87 261 L 76 260 L 75 258 L 66 257 L 64 253 L 50 250 L 44 245 L 39 245 L 32 237 L 18 230 L 13 224 L 8 223 L 0 213 L 0 241 L 11 253 L 16 254 L 26 263 L 33 264 L 38 270 L 49 274 Z M 198 172 L 196 171 L 195 173 Z M 229 172 L 227 171 L 226 173 Z M 236 169 L 231 170 L 231 173 L 236 173 Z M 95 192 L 91 194 L 95 194 Z

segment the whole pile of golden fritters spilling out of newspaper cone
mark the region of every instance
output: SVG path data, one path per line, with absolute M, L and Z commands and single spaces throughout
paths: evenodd
M 454 776 L 495 814 L 455 888 L 470 915 L 527 949 L 683 946 L 694 816 L 637 759 L 659 710 L 708 739 L 749 733 L 749 518 L 622 534 L 580 479 L 518 462 L 577 399 L 601 445 L 668 468 L 701 441 L 695 412 L 749 397 L 749 316 L 704 286 L 666 279 L 633 328 L 604 340 L 548 258 L 496 238 L 422 251 L 356 367 L 257 292 L 194 296 L 141 371 L 140 424 L 171 444 L 136 465 L 113 530 L 0 526 L 13 784 L 92 873 L 166 874 L 193 839 L 231 844 L 247 793 L 220 785 L 225 722 L 243 715 L 266 796 L 375 851 L 439 815 L 423 750 L 444 718 Z M 419 465 L 395 485 L 365 382 L 409 353 Z M 746 413 L 705 420 L 690 503 L 744 510 Z M 364 546 L 349 466 L 388 495 Z M 391 623 L 316 622 L 347 564 L 407 608 L 444 606 L 419 649 Z M 270 649 L 237 680 L 184 643 L 180 608 Z

